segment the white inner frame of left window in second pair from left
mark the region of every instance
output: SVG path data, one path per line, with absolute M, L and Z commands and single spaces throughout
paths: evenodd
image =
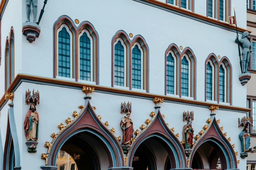
M 128 83 L 127 83 L 127 74 L 128 74 L 128 71 L 127 71 L 127 44 L 124 42 L 124 40 L 121 38 L 121 37 L 118 37 L 116 39 L 116 41 L 114 42 L 114 45 L 113 45 L 113 48 L 115 49 L 115 45 L 117 44 L 117 42 L 120 41 L 121 42 L 121 45 L 123 46 L 124 48 L 124 86 L 118 86 L 118 85 L 114 85 L 115 88 L 119 88 L 119 89 L 126 89 L 126 90 L 129 90 L 129 87 L 128 87 Z M 114 55 L 114 54 L 113 54 Z M 114 73 L 113 73 L 114 74 Z M 131 76 L 130 76 L 131 77 Z

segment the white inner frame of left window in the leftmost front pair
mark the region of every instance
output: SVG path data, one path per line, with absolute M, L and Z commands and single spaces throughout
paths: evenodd
M 70 78 L 67 78 L 67 77 L 62 77 L 62 76 L 58 76 L 58 73 L 59 73 L 59 32 L 62 30 L 62 28 L 66 28 L 67 30 L 67 33 L 69 34 L 70 36 Z M 72 31 L 69 29 L 68 25 L 66 25 L 65 23 L 61 24 L 60 28 L 58 28 L 57 30 L 57 57 L 56 57 L 56 61 L 57 61 L 57 76 L 56 78 L 59 78 L 59 79 L 64 79 L 64 80 L 72 80 L 72 81 L 76 81 L 75 78 L 73 78 L 73 72 L 74 72 L 74 66 L 73 66 L 73 60 L 74 60 L 74 56 L 73 56 L 73 34 L 72 34 Z

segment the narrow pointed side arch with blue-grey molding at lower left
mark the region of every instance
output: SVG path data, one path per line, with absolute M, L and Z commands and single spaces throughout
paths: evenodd
M 10 107 L 8 110 L 7 130 L 3 154 L 3 170 L 20 170 L 21 166 L 19 142 L 16 131 L 16 125 L 15 122 L 13 122 L 14 114 L 12 114 L 13 111 L 11 113 L 11 110 L 13 110 L 13 107 Z

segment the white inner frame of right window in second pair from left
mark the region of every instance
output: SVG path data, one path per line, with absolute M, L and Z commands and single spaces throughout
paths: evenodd
M 132 50 L 134 49 L 135 46 L 138 46 L 139 50 L 141 51 L 141 89 L 136 89 L 136 88 L 131 88 L 131 90 L 134 90 L 134 91 L 141 91 L 141 92 L 146 92 L 146 90 L 143 90 L 143 83 L 144 83 L 144 51 L 141 47 L 141 44 L 136 41 L 133 46 L 131 47 L 131 56 L 132 56 Z M 132 64 L 132 63 L 131 63 Z M 132 69 L 132 68 L 131 68 Z M 130 81 L 132 82 L 132 75 L 130 76 Z

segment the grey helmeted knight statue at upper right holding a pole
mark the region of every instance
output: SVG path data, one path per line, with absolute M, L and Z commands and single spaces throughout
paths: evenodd
M 238 41 L 238 36 L 236 35 L 235 42 L 237 43 Z M 243 46 L 243 60 L 242 60 L 242 69 L 243 73 L 248 73 L 248 64 L 249 64 L 249 59 L 250 59 L 250 53 L 251 53 L 251 43 L 247 39 L 249 36 L 248 31 L 245 31 L 242 35 L 242 39 L 239 39 L 239 45 Z

